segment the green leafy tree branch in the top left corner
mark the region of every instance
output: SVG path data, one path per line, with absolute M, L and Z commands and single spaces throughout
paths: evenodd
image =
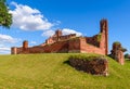
M 0 0 L 0 26 L 10 28 L 12 24 L 12 14 L 9 13 L 9 8 L 5 0 Z

